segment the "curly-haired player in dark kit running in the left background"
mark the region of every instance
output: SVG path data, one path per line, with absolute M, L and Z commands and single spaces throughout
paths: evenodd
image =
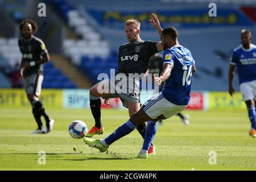
M 32 19 L 25 19 L 20 23 L 22 38 L 18 45 L 22 53 L 22 61 L 19 69 L 19 79 L 24 78 L 24 88 L 27 98 L 32 106 L 32 113 L 38 124 L 38 129 L 33 133 L 48 133 L 53 129 L 53 119 L 46 114 L 42 102 L 39 100 L 43 82 L 43 65 L 49 61 L 49 54 L 41 39 L 34 36 L 38 29 L 37 23 Z M 44 130 L 41 116 L 46 120 L 46 130 Z

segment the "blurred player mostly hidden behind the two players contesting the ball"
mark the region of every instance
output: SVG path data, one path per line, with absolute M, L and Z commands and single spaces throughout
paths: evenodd
M 154 55 L 152 55 L 150 57 L 150 64 L 148 65 L 148 70 L 145 74 L 145 77 L 147 76 L 148 73 L 159 73 L 159 75 L 163 72 L 163 57 L 159 54 L 159 53 L 155 53 Z M 159 85 L 159 92 L 162 92 L 163 90 L 163 87 L 164 87 L 164 84 L 165 82 L 162 82 L 162 84 Z M 189 115 L 188 114 L 181 114 L 181 113 L 178 113 L 177 116 L 179 116 L 184 125 L 189 125 Z M 163 122 L 162 120 L 160 119 L 158 121 L 158 125 L 163 125 Z

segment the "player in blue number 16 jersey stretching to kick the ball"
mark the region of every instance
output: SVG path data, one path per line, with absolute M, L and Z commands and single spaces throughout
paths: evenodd
M 191 52 L 180 46 L 177 37 L 178 32 L 174 27 L 167 27 L 162 31 L 163 72 L 160 77 L 155 78 L 155 81 L 159 85 L 166 81 L 163 91 L 145 102 L 138 113 L 135 113 L 125 124 L 118 127 L 109 137 L 105 139 L 85 137 L 84 142 L 86 144 L 104 152 L 108 150 L 110 144 L 131 133 L 141 123 L 170 118 L 187 107 L 190 100 L 192 73 L 196 71 L 196 68 Z M 149 123 L 138 158 L 148 158 L 147 150 L 155 136 L 155 132 L 148 126 L 150 126 Z

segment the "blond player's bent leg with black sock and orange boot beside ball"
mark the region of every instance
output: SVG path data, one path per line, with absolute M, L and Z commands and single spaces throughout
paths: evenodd
M 108 81 L 108 80 L 106 80 Z M 94 85 L 90 89 L 90 110 L 94 118 L 95 125 L 90 129 L 86 137 L 93 137 L 96 134 L 102 134 L 104 132 L 104 127 L 101 121 L 101 99 L 100 97 L 110 96 L 109 88 L 105 84 L 105 80 Z

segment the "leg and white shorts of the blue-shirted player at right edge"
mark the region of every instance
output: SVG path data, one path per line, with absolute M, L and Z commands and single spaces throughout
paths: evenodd
M 256 113 L 255 113 L 255 88 L 256 81 L 244 82 L 240 85 L 240 90 L 247 106 L 249 119 L 251 122 L 251 129 L 249 134 L 252 137 L 256 137 Z

